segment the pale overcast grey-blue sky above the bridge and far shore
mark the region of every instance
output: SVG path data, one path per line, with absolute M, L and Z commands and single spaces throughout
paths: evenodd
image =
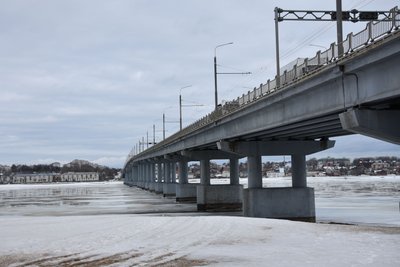
M 274 8 L 334 10 L 329 1 L 0 0 L 0 164 L 85 159 L 122 167 L 142 138 L 162 140 L 275 75 Z M 343 0 L 389 10 L 396 0 Z M 335 41 L 333 22 L 280 23 L 281 66 Z M 344 34 L 363 23 L 346 23 Z M 186 87 L 190 86 L 190 87 Z M 181 88 L 186 87 L 181 90 Z M 360 135 L 316 157 L 400 156 Z

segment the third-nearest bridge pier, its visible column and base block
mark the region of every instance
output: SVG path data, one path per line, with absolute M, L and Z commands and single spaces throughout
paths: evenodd
M 188 183 L 188 162 L 180 160 L 179 165 L 179 184 L 176 184 L 176 201 L 196 203 L 196 184 Z

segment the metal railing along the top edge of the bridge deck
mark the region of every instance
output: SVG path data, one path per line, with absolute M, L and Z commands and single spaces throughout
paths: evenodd
M 398 7 L 391 9 L 391 20 L 369 22 L 366 24 L 364 30 L 353 34 L 349 33 L 346 39 L 343 41 L 343 57 L 368 46 L 371 42 L 375 42 L 391 34 L 395 31 L 399 31 L 400 26 L 400 13 Z M 151 152 L 159 149 L 164 144 L 169 144 L 174 141 L 179 141 L 180 138 L 187 134 L 194 132 L 200 128 L 208 126 L 216 121 L 222 119 L 225 116 L 247 106 L 248 104 L 257 101 L 259 98 L 266 97 L 277 90 L 281 90 L 287 87 L 289 84 L 296 82 L 297 80 L 306 77 L 314 70 L 320 69 L 324 66 L 329 65 L 332 62 L 341 59 L 338 53 L 338 45 L 332 43 L 329 49 L 321 52 L 318 51 L 312 58 L 306 58 L 300 65 L 295 65 L 293 69 L 284 71 L 280 76 L 281 85 L 278 87 L 276 78 L 274 80 L 268 80 L 265 84 L 260 84 L 258 88 L 248 91 L 247 94 L 243 94 L 235 100 L 227 101 L 224 105 L 219 106 L 215 111 L 207 114 L 191 125 L 182 129 L 182 131 L 176 132 L 169 136 L 164 141 L 148 148 L 144 152 Z M 143 153 L 143 152 L 142 152 Z M 127 161 L 132 156 L 128 156 Z

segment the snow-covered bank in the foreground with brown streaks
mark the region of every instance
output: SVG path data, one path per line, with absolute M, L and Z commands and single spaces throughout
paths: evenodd
M 400 266 L 399 228 L 150 215 L 0 217 L 0 225 L 2 266 L 110 258 L 115 266 Z

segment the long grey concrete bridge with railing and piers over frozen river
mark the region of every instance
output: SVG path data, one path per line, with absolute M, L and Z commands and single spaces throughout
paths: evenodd
M 347 35 L 279 78 L 219 106 L 138 153 L 123 168 L 129 186 L 195 201 L 198 210 L 243 210 L 244 216 L 315 220 L 306 155 L 334 146 L 331 137 L 363 134 L 400 144 L 400 15 Z M 290 155 L 292 187 L 263 188 L 261 157 Z M 247 157 L 248 187 L 239 184 Z M 230 184 L 210 184 L 210 160 L 226 159 Z M 200 184 L 188 162 L 200 161 Z M 178 165 L 177 183 L 175 169 Z

